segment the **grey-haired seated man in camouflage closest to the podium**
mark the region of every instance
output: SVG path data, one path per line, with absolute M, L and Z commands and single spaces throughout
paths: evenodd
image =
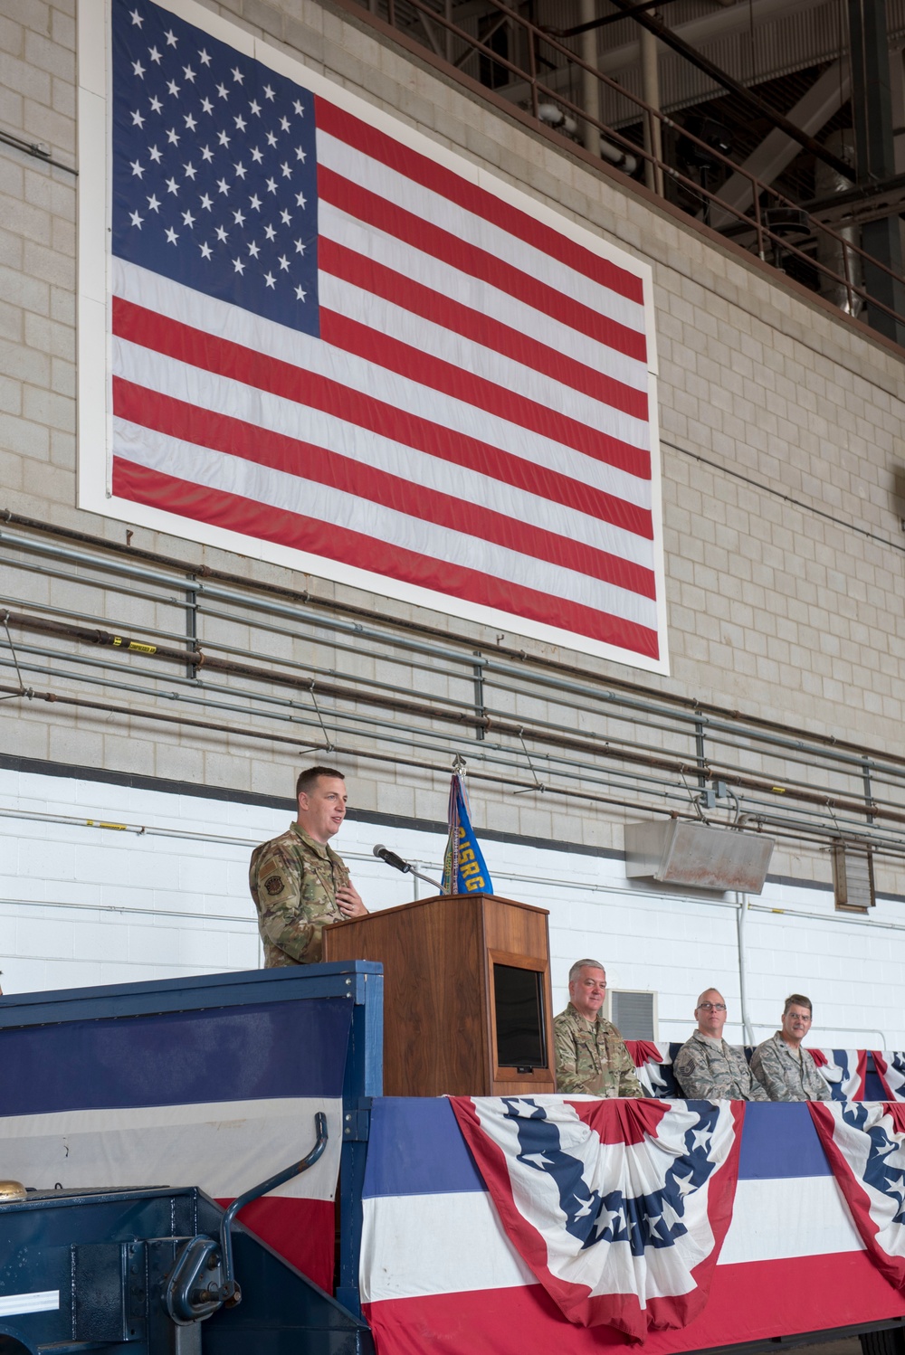
M 576 959 L 569 970 L 569 1005 L 553 1022 L 558 1092 L 644 1096 L 626 1043 L 600 1015 L 607 976 L 596 959 Z

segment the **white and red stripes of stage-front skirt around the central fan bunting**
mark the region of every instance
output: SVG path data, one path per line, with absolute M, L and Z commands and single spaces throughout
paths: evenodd
M 611 1327 L 564 1318 L 486 1191 L 364 1201 L 362 1302 L 385 1355 L 618 1355 Z M 645 1355 L 728 1348 L 905 1312 L 868 1259 L 833 1176 L 740 1180 L 703 1310 L 649 1332 Z

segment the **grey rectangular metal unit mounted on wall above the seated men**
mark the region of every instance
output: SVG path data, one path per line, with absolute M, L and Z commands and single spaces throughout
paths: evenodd
M 626 824 L 626 875 L 691 889 L 759 894 L 774 839 L 684 818 Z

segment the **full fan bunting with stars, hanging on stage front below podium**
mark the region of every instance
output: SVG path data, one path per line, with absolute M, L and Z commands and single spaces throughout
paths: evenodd
M 700 1312 L 732 1218 L 742 1103 L 451 1103 L 509 1241 L 570 1321 L 642 1340 Z

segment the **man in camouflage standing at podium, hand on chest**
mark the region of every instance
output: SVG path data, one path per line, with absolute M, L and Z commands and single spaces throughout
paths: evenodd
M 264 969 L 316 963 L 324 953 L 324 927 L 367 912 L 345 862 L 328 847 L 345 818 L 343 774 L 309 767 L 295 783 L 295 797 L 298 818 L 255 848 L 248 871 Z

